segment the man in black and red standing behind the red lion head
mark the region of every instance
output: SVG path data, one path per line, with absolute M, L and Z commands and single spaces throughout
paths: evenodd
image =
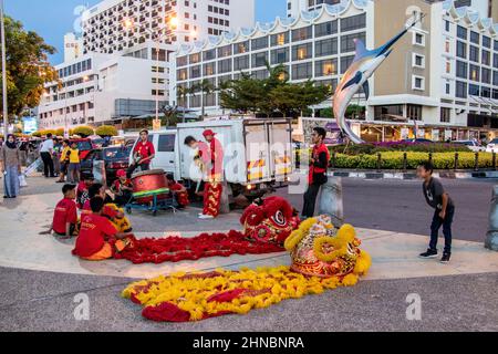
M 326 168 L 330 162 L 330 152 L 323 140 L 326 137 L 326 131 L 321 127 L 313 129 L 311 135 L 314 145 L 310 159 L 310 171 L 308 177 L 308 190 L 304 194 L 304 206 L 302 208 L 302 219 L 312 218 L 317 205 L 317 197 L 320 188 L 326 184 Z

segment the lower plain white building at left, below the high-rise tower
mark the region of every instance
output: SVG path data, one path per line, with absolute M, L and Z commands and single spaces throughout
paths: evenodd
M 60 83 L 45 86 L 39 106 L 40 128 L 72 128 L 77 125 L 123 124 L 155 116 L 167 104 L 168 63 L 159 64 L 147 46 L 128 55 L 85 54 L 56 65 Z

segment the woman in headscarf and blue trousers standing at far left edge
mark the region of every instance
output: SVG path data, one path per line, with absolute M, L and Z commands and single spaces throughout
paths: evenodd
M 12 134 L 7 136 L 0 149 L 1 173 L 3 175 L 3 198 L 17 198 L 19 195 L 19 175 L 21 174 L 21 154 Z

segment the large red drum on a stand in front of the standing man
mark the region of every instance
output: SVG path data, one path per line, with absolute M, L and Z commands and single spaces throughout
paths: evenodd
M 133 197 L 138 204 L 149 204 L 154 200 L 164 200 L 169 197 L 166 175 L 162 169 L 145 170 L 132 176 Z

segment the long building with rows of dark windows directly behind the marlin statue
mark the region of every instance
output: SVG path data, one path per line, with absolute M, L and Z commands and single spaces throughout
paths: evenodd
M 264 63 L 283 64 L 292 82 L 309 79 L 335 88 L 355 55 L 354 39 L 370 49 L 397 34 L 415 18 L 424 21 L 396 43 L 370 80 L 365 106 L 351 116 L 367 140 L 414 137 L 430 139 L 492 138 L 498 133 L 498 24 L 458 1 L 346 0 L 300 11 L 297 17 L 180 45 L 172 62 L 170 97 L 178 87 L 203 80 L 219 86 L 241 72 L 266 77 Z M 386 21 L 388 14 L 388 21 Z M 176 84 L 174 82 L 176 81 Z M 177 101 L 212 115 L 228 114 L 219 94 Z M 331 107 L 324 102 L 314 107 Z

